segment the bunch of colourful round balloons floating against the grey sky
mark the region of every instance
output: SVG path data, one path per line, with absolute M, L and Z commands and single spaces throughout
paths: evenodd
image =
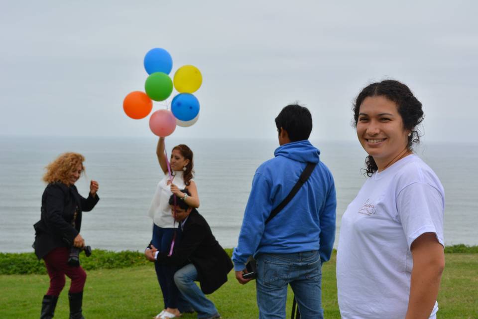
M 164 101 L 173 91 L 173 81 L 169 77 L 173 60 L 168 51 L 162 48 L 149 50 L 144 56 L 144 69 L 148 77 L 144 92 L 134 91 L 123 100 L 123 110 L 132 119 L 143 119 L 151 113 L 153 102 Z M 166 137 L 176 129 L 176 125 L 189 127 L 199 118 L 199 101 L 192 94 L 202 84 L 201 72 L 192 65 L 180 67 L 174 75 L 174 87 L 179 92 L 171 102 L 171 111 L 158 110 L 149 118 L 149 128 L 153 134 Z

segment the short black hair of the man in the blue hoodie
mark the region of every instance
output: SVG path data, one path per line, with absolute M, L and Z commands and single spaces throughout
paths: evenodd
M 306 107 L 289 104 L 275 118 L 275 126 L 279 134 L 280 128 L 286 130 L 291 142 L 308 140 L 312 132 L 312 115 Z

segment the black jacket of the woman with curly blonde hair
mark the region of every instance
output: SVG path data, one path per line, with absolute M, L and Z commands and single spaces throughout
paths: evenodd
M 38 259 L 54 248 L 73 245 L 73 240 L 80 232 L 82 211 L 92 210 L 99 200 L 98 194 L 95 197 L 82 197 L 75 185 L 67 186 L 60 182 L 48 184 L 41 198 L 41 219 L 33 225 L 33 248 Z M 73 227 L 75 211 L 77 216 Z

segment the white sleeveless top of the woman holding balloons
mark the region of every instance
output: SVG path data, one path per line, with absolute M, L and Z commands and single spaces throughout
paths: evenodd
M 173 184 L 179 187 L 179 189 L 185 189 L 183 172 L 175 171 L 173 178 Z M 168 185 L 169 174 L 166 173 L 158 183 L 156 193 L 151 201 L 151 207 L 149 208 L 149 217 L 153 219 L 156 226 L 162 228 L 177 228 L 178 224 L 174 222 L 174 217 L 171 214 L 171 206 L 169 206 L 169 197 L 173 194 L 171 192 L 171 184 Z M 191 179 L 192 180 L 192 179 Z

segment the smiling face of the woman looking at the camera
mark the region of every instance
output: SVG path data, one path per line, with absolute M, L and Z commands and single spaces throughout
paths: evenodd
M 384 96 L 369 96 L 360 104 L 357 137 L 378 167 L 387 165 L 407 148 L 408 133 L 395 102 Z

